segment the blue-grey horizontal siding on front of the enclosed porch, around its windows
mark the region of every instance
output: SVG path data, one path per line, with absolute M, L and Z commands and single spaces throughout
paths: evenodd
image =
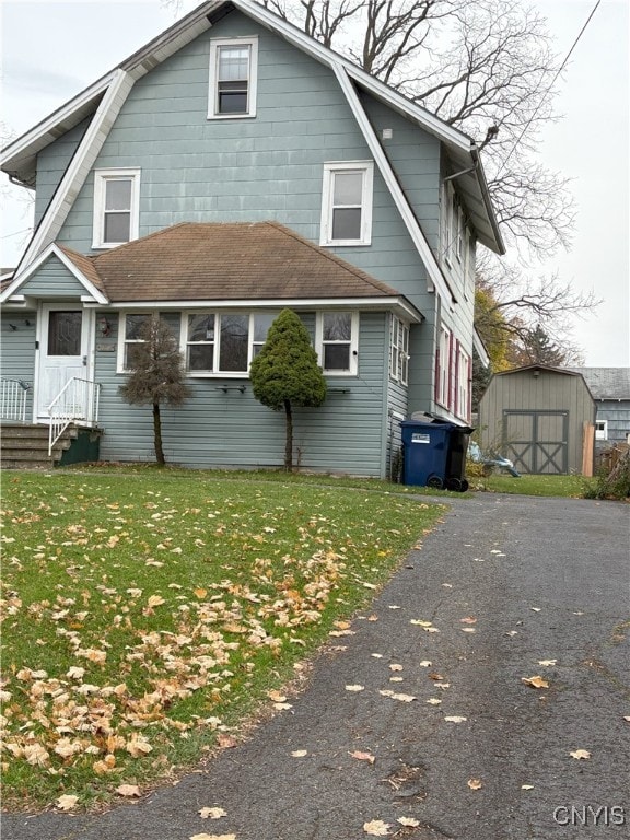
M 97 313 L 96 318 L 102 313 Z M 150 406 L 122 402 L 116 353 L 118 320 L 108 313 L 113 331 L 97 342 L 96 380 L 102 384 L 100 425 L 105 430 L 101 457 L 107 460 L 152 460 Z M 304 318 L 314 328 L 314 317 Z M 317 409 L 294 411 L 294 458 L 302 469 L 384 476 L 383 369 L 387 316 L 362 313 L 359 374 L 329 377 L 329 393 Z M 101 349 L 98 349 L 101 348 Z M 167 460 L 189 467 L 269 467 L 284 459 L 284 415 L 271 411 L 252 394 L 248 380 L 190 380 L 194 396 L 180 408 L 162 408 Z M 245 385 L 245 393 L 236 388 Z M 223 392 L 222 388 L 229 388 Z M 341 393 L 341 390 L 347 393 Z

